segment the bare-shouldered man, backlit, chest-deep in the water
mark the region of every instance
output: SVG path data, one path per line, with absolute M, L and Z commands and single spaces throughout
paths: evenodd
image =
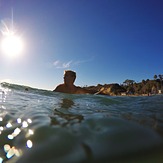
M 86 94 L 91 93 L 84 88 L 77 87 L 74 85 L 76 79 L 76 72 L 71 70 L 66 70 L 64 72 L 64 83 L 58 85 L 53 91 L 55 92 L 63 92 L 63 93 L 71 93 L 71 94 Z

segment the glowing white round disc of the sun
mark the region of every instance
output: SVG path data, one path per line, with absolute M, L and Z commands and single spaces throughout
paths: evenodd
M 1 50 L 5 56 L 9 58 L 19 57 L 24 49 L 24 44 L 21 37 L 16 35 L 7 35 L 4 36 L 1 40 Z

